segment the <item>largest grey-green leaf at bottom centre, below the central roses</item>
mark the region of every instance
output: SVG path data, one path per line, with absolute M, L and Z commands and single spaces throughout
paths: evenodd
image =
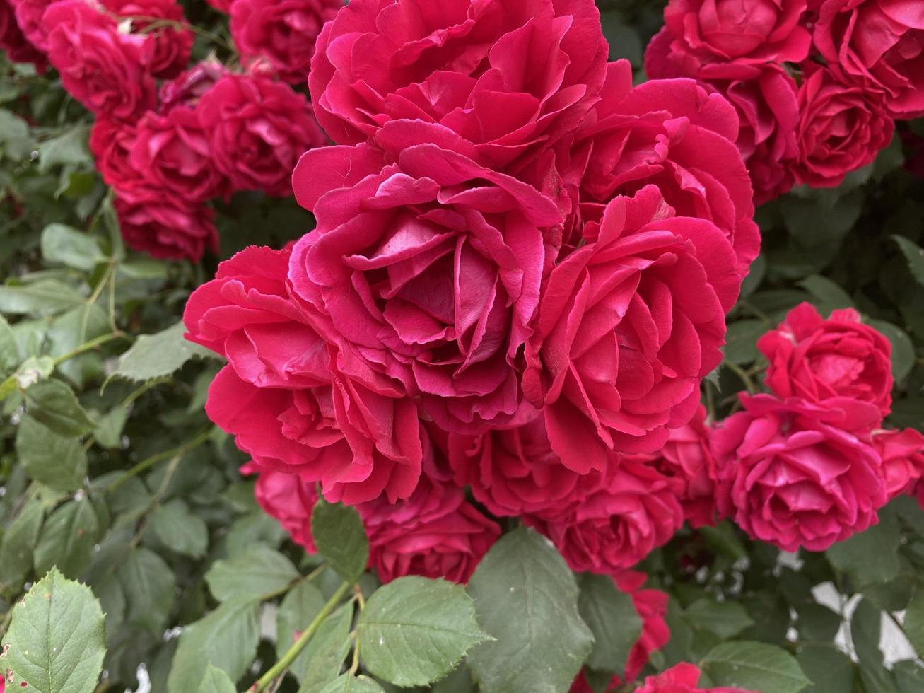
M 564 693 L 590 654 L 577 583 L 552 542 L 517 529 L 495 543 L 468 583 L 481 626 L 468 666 L 487 693 Z

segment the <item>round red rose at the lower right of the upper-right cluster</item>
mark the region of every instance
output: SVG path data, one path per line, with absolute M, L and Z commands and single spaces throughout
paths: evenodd
M 872 163 L 892 141 L 895 124 L 875 91 L 845 84 L 823 67 L 809 66 L 806 75 L 798 92 L 796 181 L 834 188 Z

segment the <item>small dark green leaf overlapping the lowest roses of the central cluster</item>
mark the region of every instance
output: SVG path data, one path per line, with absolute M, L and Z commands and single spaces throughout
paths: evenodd
M 356 508 L 319 498 L 311 511 L 311 536 L 337 575 L 351 584 L 359 580 L 369 563 L 369 540 Z

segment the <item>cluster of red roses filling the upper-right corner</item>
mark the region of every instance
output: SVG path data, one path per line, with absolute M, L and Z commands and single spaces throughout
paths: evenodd
M 888 0 L 670 0 L 650 77 L 690 77 L 741 118 L 757 202 L 838 185 L 924 115 L 924 22 Z

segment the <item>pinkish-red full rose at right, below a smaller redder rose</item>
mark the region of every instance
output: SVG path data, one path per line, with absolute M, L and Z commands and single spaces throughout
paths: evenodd
M 873 405 L 849 397 L 812 404 L 740 395 L 744 411 L 713 429 L 723 514 L 784 551 L 824 551 L 869 528 L 887 496 L 869 441 Z

